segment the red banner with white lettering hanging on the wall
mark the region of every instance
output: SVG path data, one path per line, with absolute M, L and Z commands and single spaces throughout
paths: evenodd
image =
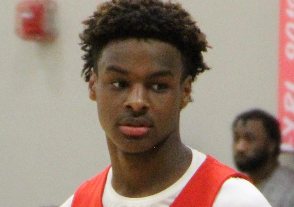
M 294 152 L 294 0 L 280 0 L 278 119 L 283 152 Z

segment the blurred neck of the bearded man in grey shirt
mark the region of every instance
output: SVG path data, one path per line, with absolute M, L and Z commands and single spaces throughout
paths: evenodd
M 252 179 L 254 185 L 258 186 L 265 178 L 272 174 L 272 172 L 277 168 L 277 166 L 277 159 L 270 159 L 257 170 L 248 172 L 247 174 Z

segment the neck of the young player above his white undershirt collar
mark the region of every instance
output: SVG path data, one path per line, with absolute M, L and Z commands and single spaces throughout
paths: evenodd
M 187 171 L 192 152 L 178 139 L 167 139 L 141 153 L 126 153 L 108 143 L 112 186 L 126 197 L 154 195 L 173 185 Z

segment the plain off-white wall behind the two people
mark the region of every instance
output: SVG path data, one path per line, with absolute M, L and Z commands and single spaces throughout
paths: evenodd
M 52 44 L 14 34 L 15 5 L 0 7 L 0 207 L 60 205 L 109 164 L 95 103 L 80 78 L 81 21 L 101 0 L 58 0 Z M 187 145 L 233 166 L 230 124 L 252 107 L 277 112 L 278 1 L 182 0 L 213 46 L 211 71 L 182 112 Z

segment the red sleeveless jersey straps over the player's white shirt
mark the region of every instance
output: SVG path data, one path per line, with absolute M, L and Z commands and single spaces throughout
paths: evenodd
M 107 167 L 78 187 L 72 207 L 103 207 L 102 196 L 109 171 Z M 230 177 L 249 178 L 207 155 L 205 161 L 183 188 L 171 207 L 211 207 L 221 186 Z M 250 180 L 249 180 L 250 181 Z

